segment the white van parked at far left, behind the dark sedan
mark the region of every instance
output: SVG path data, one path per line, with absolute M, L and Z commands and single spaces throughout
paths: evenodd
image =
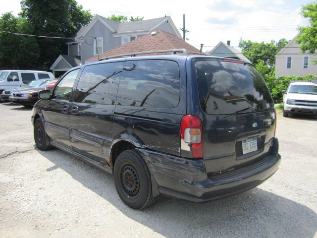
M 0 94 L 3 90 L 21 87 L 35 79 L 54 78 L 53 73 L 36 70 L 0 70 Z M 1 101 L 1 98 L 0 98 Z

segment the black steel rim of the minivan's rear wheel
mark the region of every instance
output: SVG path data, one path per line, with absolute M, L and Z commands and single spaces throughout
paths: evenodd
M 139 192 L 139 176 L 136 170 L 127 165 L 122 169 L 121 182 L 124 190 L 131 196 L 135 196 Z

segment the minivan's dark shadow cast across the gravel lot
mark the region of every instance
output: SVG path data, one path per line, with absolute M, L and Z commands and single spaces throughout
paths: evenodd
M 161 197 L 145 210 L 133 210 L 119 199 L 112 175 L 58 149 L 37 151 L 54 164 L 47 168 L 47 173 L 62 169 L 128 218 L 167 238 L 263 237 L 263 234 L 313 238 L 317 231 L 317 214 L 312 209 L 261 188 L 207 203 Z

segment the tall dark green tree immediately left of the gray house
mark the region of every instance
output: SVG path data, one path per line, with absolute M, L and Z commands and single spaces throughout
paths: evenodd
M 93 15 L 76 0 L 22 0 L 21 17 L 32 24 L 34 35 L 72 37 Z M 41 49 L 38 67 L 48 69 L 66 51 L 66 39 L 36 38 Z

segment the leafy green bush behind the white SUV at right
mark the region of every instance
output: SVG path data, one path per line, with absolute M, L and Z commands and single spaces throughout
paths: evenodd
M 305 76 L 272 76 L 266 74 L 264 75 L 264 79 L 266 81 L 268 88 L 271 91 L 274 102 L 279 103 L 283 101 L 282 90 L 286 90 L 291 81 L 312 81 L 316 79 L 316 76 L 314 76 L 313 74 Z

